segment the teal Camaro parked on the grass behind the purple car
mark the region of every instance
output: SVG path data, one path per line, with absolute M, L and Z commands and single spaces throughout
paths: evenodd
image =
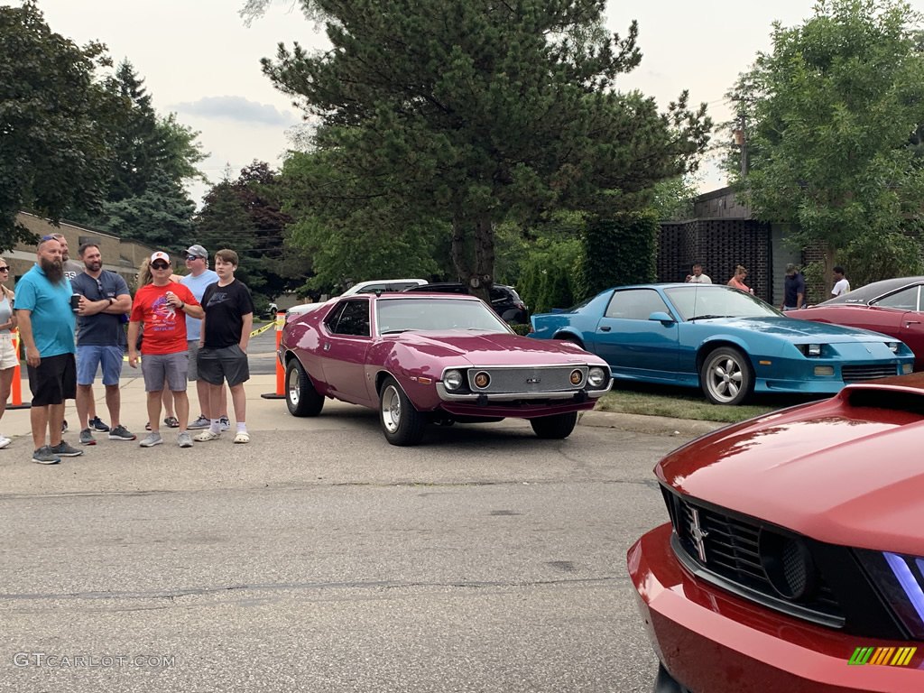
M 532 316 L 535 339 L 597 354 L 614 379 L 700 387 L 716 404 L 754 392 L 834 394 L 914 369 L 894 337 L 787 318 L 731 286 L 620 286 L 562 311 Z

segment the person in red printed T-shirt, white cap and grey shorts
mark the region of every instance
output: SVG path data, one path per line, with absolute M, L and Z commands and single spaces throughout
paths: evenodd
M 166 378 L 167 386 L 174 395 L 176 417 L 179 419 L 176 444 L 192 447 L 192 437 L 187 431 L 189 399 L 186 395 L 186 379 L 189 356 L 186 316 L 201 318 L 205 313 L 186 286 L 170 281 L 172 265 L 169 255 L 161 250 L 153 253 L 150 267 L 152 283 L 140 286 L 128 319 L 128 365 L 132 368 L 138 368 L 138 334 L 140 325 L 144 325 L 141 373 L 147 392 L 151 432 L 140 445 L 153 447 L 164 442 L 161 438 L 160 419 L 161 394 Z

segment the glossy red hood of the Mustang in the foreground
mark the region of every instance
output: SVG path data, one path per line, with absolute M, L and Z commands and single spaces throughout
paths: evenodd
M 679 492 L 821 541 L 924 555 L 924 419 L 851 407 L 849 390 L 711 433 L 655 473 Z

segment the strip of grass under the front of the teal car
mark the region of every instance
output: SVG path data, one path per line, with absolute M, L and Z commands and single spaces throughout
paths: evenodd
M 623 414 L 644 414 L 675 419 L 699 419 L 735 423 L 766 414 L 783 407 L 798 404 L 804 399 L 755 397 L 750 404 L 740 407 L 713 405 L 699 390 L 680 387 L 657 387 L 635 383 L 615 383 L 614 390 L 600 398 L 597 411 L 615 411 Z

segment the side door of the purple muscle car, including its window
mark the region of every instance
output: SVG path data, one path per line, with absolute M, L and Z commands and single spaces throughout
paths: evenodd
M 324 378 L 337 397 L 370 403 L 366 387 L 366 354 L 371 345 L 369 298 L 341 301 L 324 321 L 321 338 Z

